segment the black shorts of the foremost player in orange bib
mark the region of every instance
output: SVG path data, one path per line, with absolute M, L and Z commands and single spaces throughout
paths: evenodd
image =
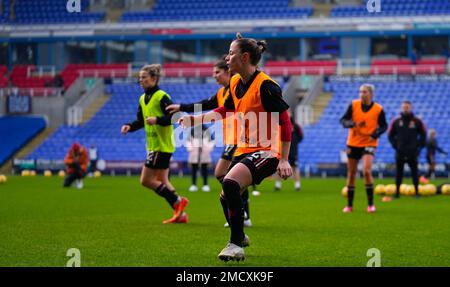
M 252 174 L 252 184 L 260 184 L 277 171 L 279 162 L 278 158 L 269 156 L 267 152 L 257 151 L 234 157 L 228 170 L 238 163 L 245 164 Z

